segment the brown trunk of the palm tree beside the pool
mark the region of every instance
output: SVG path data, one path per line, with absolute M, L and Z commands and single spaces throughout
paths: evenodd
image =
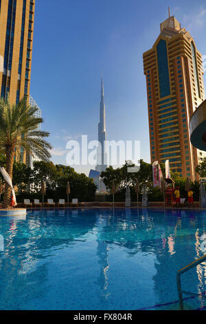
M 6 172 L 10 175 L 12 179 L 13 165 L 14 165 L 14 147 L 8 145 L 5 150 L 6 157 Z M 8 183 L 5 183 L 5 191 L 3 195 L 3 207 L 8 208 L 11 206 L 11 188 Z

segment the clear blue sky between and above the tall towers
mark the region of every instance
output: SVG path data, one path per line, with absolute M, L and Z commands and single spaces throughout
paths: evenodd
M 205 0 L 36 0 L 30 92 L 51 133 L 54 163 L 66 164 L 68 140 L 98 139 L 101 71 L 107 139 L 140 141 L 141 159 L 150 162 L 142 54 L 168 6 L 206 55 Z

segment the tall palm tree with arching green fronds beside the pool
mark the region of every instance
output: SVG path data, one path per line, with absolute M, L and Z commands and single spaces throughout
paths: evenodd
M 27 105 L 26 99 L 16 105 L 10 105 L 9 99 L 0 99 L 0 152 L 5 154 L 6 171 L 11 179 L 14 155 L 18 157 L 21 148 L 43 160 L 51 156 L 52 146 L 44 139 L 49 133 L 37 129 L 43 119 L 34 117 L 36 110 L 38 108 Z M 11 188 L 5 183 L 3 207 L 10 207 L 10 199 Z

